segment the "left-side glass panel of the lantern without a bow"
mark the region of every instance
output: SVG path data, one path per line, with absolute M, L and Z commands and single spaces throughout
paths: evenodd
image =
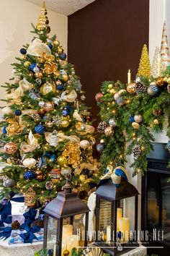
M 58 220 L 48 216 L 47 249 L 55 249 Z

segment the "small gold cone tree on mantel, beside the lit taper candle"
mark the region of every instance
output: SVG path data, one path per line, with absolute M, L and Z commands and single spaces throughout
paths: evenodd
M 143 75 L 145 77 L 150 77 L 151 64 L 148 56 L 148 48 L 146 44 L 143 46 L 142 54 L 140 57 L 140 64 L 138 67 L 138 76 Z

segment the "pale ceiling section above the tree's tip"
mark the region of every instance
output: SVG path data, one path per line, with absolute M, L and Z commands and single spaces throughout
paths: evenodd
M 37 5 L 42 5 L 42 0 L 26 0 Z M 78 11 L 81 8 L 86 7 L 87 4 L 92 3 L 95 0 L 45 0 L 45 6 L 47 9 L 53 10 L 63 15 L 70 15 L 73 12 Z

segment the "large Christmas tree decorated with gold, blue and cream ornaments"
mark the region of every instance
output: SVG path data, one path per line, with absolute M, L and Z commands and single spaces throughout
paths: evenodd
M 1 198 L 22 192 L 29 206 L 55 197 L 66 176 L 81 197 L 97 182 L 91 114 L 73 64 L 56 35 L 48 35 L 48 23 L 44 4 L 32 25 L 35 37 L 20 49 L 12 82 L 4 85 Z

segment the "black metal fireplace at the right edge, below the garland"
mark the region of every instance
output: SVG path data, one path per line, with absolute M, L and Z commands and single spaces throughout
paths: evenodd
M 170 255 L 170 155 L 165 145 L 153 143 L 148 171 L 142 177 L 141 230 L 148 231 L 148 242 L 143 242 L 147 255 Z

